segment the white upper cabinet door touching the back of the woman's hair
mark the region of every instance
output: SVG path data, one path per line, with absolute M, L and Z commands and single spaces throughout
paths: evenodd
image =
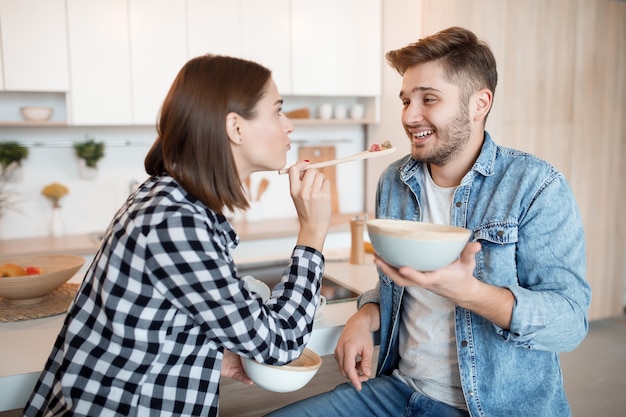
M 134 124 L 154 125 L 187 61 L 185 2 L 129 0 Z

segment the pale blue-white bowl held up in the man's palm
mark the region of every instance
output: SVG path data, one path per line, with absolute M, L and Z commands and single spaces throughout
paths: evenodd
M 461 227 L 410 220 L 372 219 L 365 222 L 376 253 L 396 268 L 434 271 L 459 257 L 470 237 Z

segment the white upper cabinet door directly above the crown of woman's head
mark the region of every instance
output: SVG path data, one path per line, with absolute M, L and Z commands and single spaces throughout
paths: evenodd
M 239 0 L 187 0 L 188 58 L 204 54 L 241 56 Z

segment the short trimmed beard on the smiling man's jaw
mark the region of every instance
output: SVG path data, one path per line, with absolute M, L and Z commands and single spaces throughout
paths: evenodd
M 419 147 L 411 148 L 413 159 L 433 165 L 445 165 L 462 152 L 471 135 L 467 105 L 461 105 L 455 118 L 447 126 L 437 128 L 435 134 L 437 142 L 429 151 Z M 412 139 L 412 135 L 409 134 L 409 138 Z

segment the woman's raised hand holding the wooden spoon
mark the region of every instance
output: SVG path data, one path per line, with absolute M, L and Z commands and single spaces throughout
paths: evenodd
M 300 232 L 297 244 L 322 251 L 330 227 L 330 181 L 315 170 L 302 170 L 307 162 L 298 162 L 289 168 L 291 198 L 298 213 Z

